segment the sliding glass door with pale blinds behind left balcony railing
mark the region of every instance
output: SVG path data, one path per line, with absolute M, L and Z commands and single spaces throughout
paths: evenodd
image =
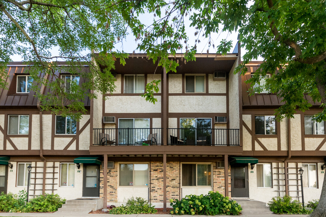
M 119 144 L 134 144 L 141 139 L 146 140 L 149 129 L 149 118 L 120 118 L 119 119 Z

